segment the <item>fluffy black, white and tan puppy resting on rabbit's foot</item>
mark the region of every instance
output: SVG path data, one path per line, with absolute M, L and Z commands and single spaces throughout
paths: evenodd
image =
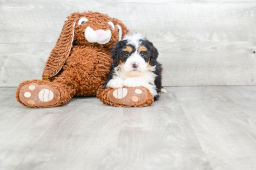
M 162 88 L 162 65 L 156 61 L 158 51 L 140 33 L 127 34 L 111 51 L 112 67 L 104 89 L 144 87 L 158 100 Z

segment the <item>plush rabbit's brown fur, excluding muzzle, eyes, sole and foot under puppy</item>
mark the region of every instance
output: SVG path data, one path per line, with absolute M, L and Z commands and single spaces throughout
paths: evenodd
M 79 25 L 78 21 L 83 17 L 88 21 Z M 115 25 L 115 29 L 111 29 L 109 21 Z M 61 100 L 54 105 L 44 107 L 59 106 L 74 95 L 95 96 L 97 89 L 104 84 L 113 61 L 110 50 L 119 39 L 117 25 L 121 26 L 122 37 L 129 32 L 119 19 L 111 18 L 107 14 L 91 11 L 72 13 L 67 17 L 61 35 L 47 59 L 42 75 L 43 81 L 32 80 L 20 83 L 16 91 L 17 101 L 26 105 L 20 101 L 19 93 L 20 89 L 29 83 L 45 84 L 60 91 Z M 88 42 L 85 38 L 85 30 L 88 26 L 94 31 L 110 30 L 112 36 L 109 42 L 106 44 Z M 73 37 L 74 42 L 72 42 Z

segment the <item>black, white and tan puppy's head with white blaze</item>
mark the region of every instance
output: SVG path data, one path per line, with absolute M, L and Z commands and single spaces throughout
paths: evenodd
M 120 65 L 125 72 L 145 72 L 155 66 L 157 57 L 156 48 L 140 33 L 126 35 L 112 50 L 114 67 Z

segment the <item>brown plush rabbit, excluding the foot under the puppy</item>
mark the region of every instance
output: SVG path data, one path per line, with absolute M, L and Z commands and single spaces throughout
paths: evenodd
M 55 107 L 76 96 L 95 96 L 111 67 L 110 50 L 129 32 L 107 14 L 72 13 L 47 59 L 43 80 L 20 83 L 16 99 L 28 107 Z

